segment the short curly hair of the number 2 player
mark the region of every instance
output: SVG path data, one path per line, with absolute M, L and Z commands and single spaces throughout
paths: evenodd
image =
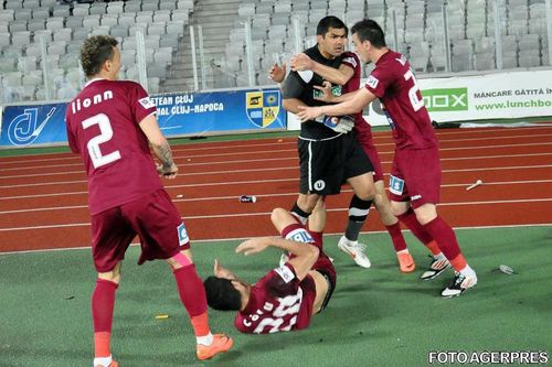
M 102 65 L 108 60 L 113 60 L 113 47 L 119 42 L 110 35 L 93 35 L 84 41 L 81 47 L 81 64 L 87 77 L 96 75 L 102 69 Z

